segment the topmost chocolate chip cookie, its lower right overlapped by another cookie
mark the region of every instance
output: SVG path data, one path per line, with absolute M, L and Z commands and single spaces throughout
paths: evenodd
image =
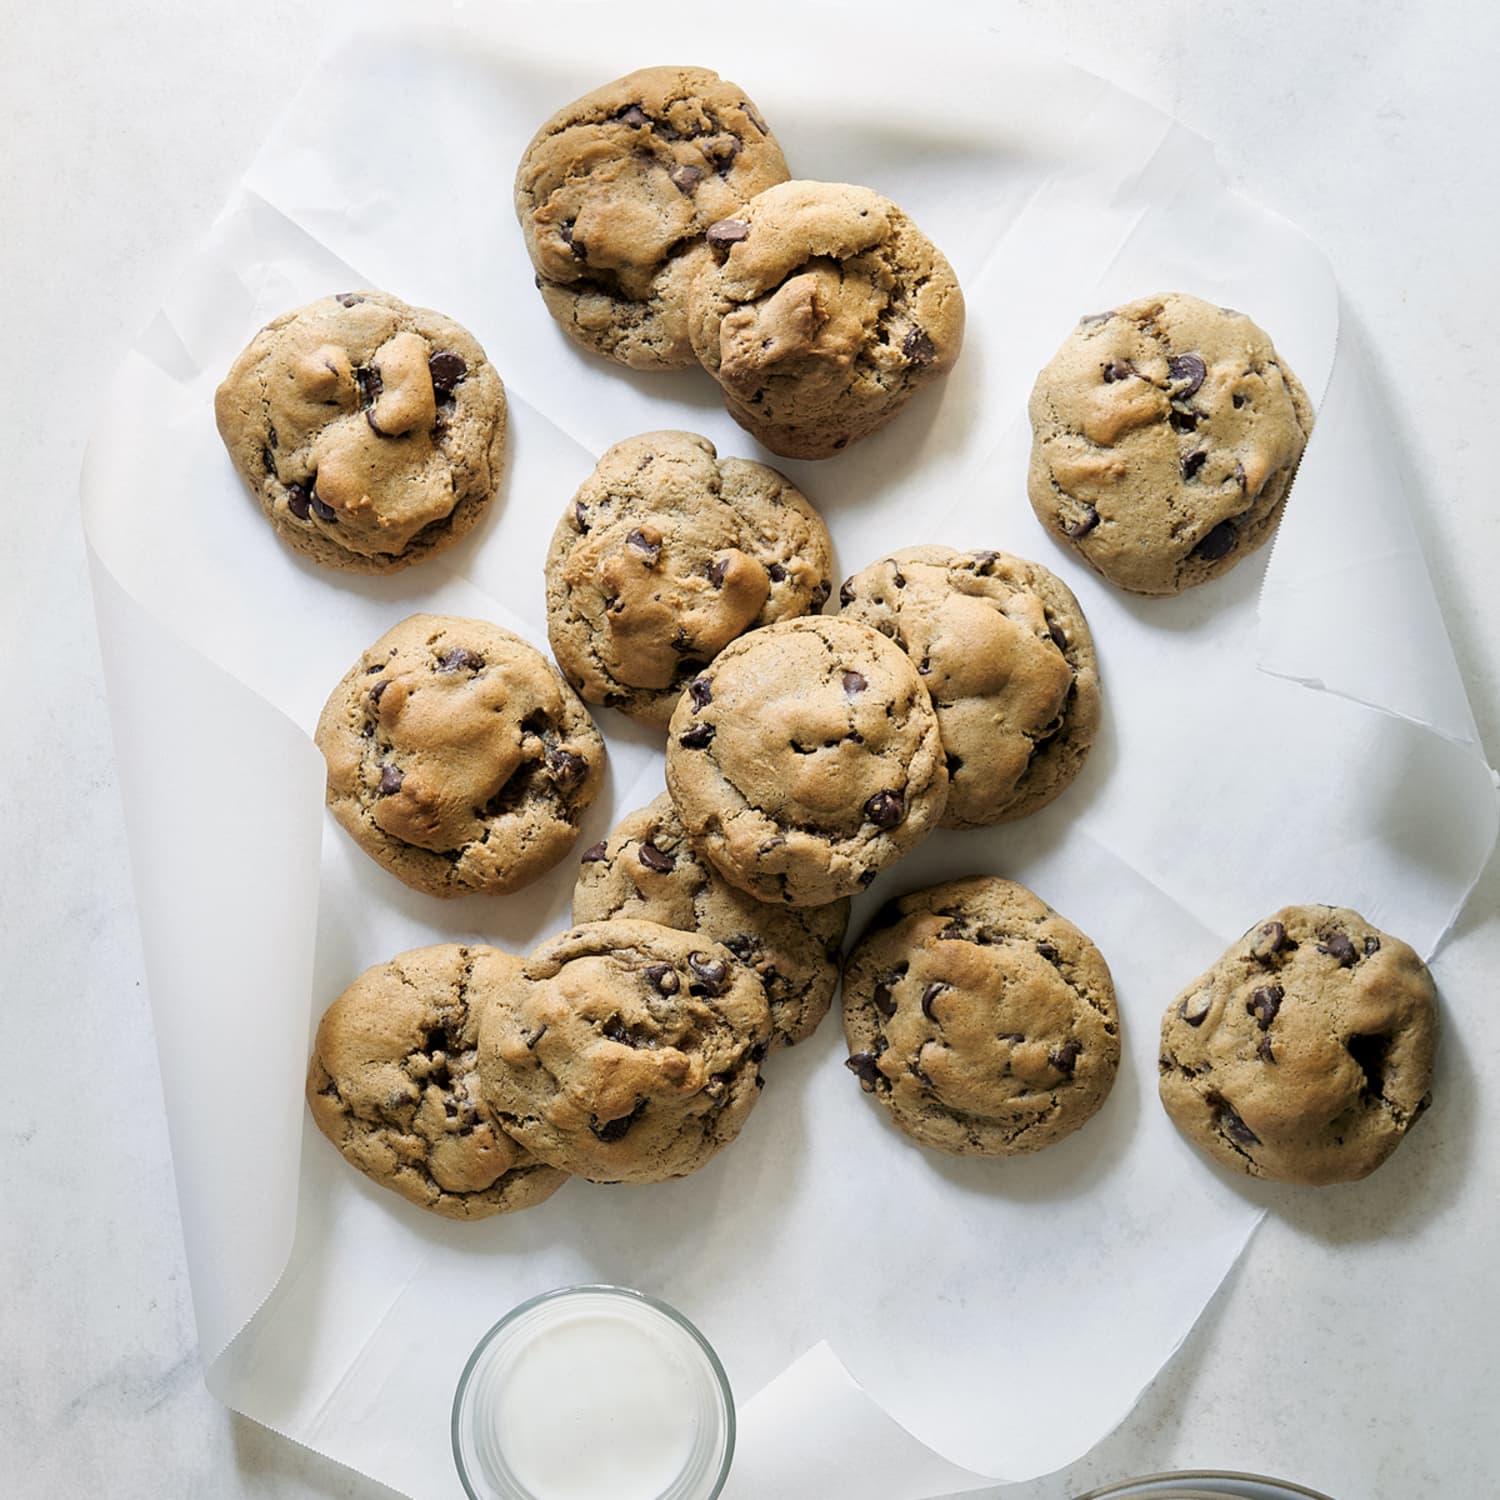
M 644 68 L 560 110 L 516 172 L 516 218 L 548 312 L 634 369 L 693 363 L 687 288 L 704 231 L 786 180 L 782 147 L 706 68 Z

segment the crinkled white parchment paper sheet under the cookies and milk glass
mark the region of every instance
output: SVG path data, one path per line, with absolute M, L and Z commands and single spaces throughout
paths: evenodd
M 741 1396 L 766 1388 L 730 1492 L 908 1500 L 1071 1461 L 1276 1202 L 1209 1167 L 1156 1106 L 1166 1002 L 1286 902 L 1356 906 L 1430 952 L 1494 843 L 1494 777 L 1382 426 L 1358 368 L 1335 362 L 1318 252 L 1227 192 L 1206 142 L 1108 84 L 982 33 L 856 15 L 771 4 L 746 33 L 674 4 L 650 26 L 594 4 L 362 6 L 122 368 L 90 447 L 84 516 L 208 1378 L 411 1496 L 459 1494 L 447 1422 L 474 1341 L 572 1281 L 664 1296 Z M 574 351 L 510 206 L 514 164 L 560 104 L 684 60 L 750 92 L 798 176 L 902 202 L 964 285 L 968 342 L 942 390 L 836 460 L 778 462 L 842 570 L 920 542 L 1018 552 L 1074 588 L 1100 650 L 1106 723 L 1078 783 L 1017 826 L 934 836 L 861 898 L 854 930 L 933 879 L 1020 879 L 1107 956 L 1125 1060 L 1076 1137 L 948 1160 L 852 1086 L 832 1017 L 772 1059 L 740 1143 L 693 1178 L 570 1184 L 454 1226 L 312 1131 L 310 1029 L 404 948 L 530 948 L 566 926 L 573 868 L 500 902 L 405 890 L 324 819 L 308 735 L 348 663 L 412 610 L 486 616 L 546 650 L 546 542 L 610 442 L 684 426 L 764 456 L 706 378 Z M 512 400 L 494 514 L 382 579 L 279 546 L 212 418 L 261 322 L 357 286 L 466 324 Z M 1035 524 L 1024 400 L 1080 314 L 1164 290 L 1251 312 L 1326 399 L 1275 550 L 1148 602 Z M 662 786 L 658 740 L 598 718 L 610 786 L 580 848 Z M 814 1449 L 864 1458 L 818 1468 Z

